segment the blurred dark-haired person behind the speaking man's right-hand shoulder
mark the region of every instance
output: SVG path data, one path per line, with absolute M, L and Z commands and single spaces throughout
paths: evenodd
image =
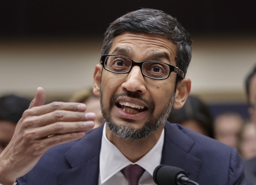
M 189 95 L 184 106 L 173 109 L 167 120 L 213 138 L 213 118 L 209 108 L 195 96 Z

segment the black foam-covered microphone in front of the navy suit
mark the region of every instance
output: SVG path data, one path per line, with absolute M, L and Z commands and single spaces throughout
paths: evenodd
M 153 172 L 153 180 L 157 185 L 184 185 L 191 183 L 199 185 L 188 178 L 187 172 L 181 168 L 167 165 L 159 165 Z

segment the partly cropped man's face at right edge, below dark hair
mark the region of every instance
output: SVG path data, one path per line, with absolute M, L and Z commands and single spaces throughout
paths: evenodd
M 249 85 L 249 94 L 250 94 L 250 104 L 253 105 L 253 107 L 249 108 L 249 114 L 251 121 L 256 124 L 256 74 L 251 79 L 250 85 Z

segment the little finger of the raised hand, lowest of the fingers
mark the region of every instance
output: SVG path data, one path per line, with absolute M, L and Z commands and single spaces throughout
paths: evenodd
M 34 155 L 42 155 L 46 150 L 48 150 L 50 147 L 57 145 L 57 144 L 63 144 L 72 140 L 77 140 L 85 136 L 85 132 L 71 132 L 67 134 L 58 134 L 53 135 L 51 137 L 47 137 L 43 140 L 41 140 L 43 143 L 39 145 Z

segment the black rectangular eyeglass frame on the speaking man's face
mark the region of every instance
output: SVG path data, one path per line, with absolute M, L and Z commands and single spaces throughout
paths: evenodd
M 126 59 L 130 60 L 130 61 L 132 62 L 132 63 L 131 63 L 131 68 L 130 68 L 130 70 L 127 71 L 127 72 L 114 72 L 114 71 L 110 71 L 110 70 L 106 69 L 106 67 L 105 67 L 105 62 L 106 62 L 106 58 L 109 57 L 109 56 L 123 57 L 123 58 L 126 58 Z M 143 73 L 143 71 L 142 71 L 142 64 L 143 64 L 144 62 L 158 62 L 158 63 L 166 64 L 167 66 L 169 66 L 169 69 L 170 69 L 168 76 L 167 76 L 166 78 L 154 78 L 154 77 L 149 77 L 149 76 L 145 75 L 145 74 Z M 128 57 L 125 57 L 125 56 L 122 56 L 122 55 L 101 55 L 100 63 L 101 63 L 101 65 L 104 67 L 105 70 L 110 71 L 110 72 L 112 72 L 112 73 L 121 73 L 121 74 L 130 73 L 131 69 L 133 69 L 133 66 L 134 66 L 134 65 L 137 65 L 137 66 L 139 66 L 139 67 L 141 68 L 141 74 L 142 74 L 144 77 L 162 80 L 162 79 L 167 79 L 167 78 L 169 78 L 171 72 L 174 72 L 175 74 L 179 74 L 182 79 L 184 78 L 184 73 L 183 73 L 183 71 L 180 70 L 178 67 L 175 67 L 175 66 L 173 66 L 173 65 L 167 64 L 167 63 L 165 63 L 165 62 L 160 62 L 160 61 L 142 61 L 142 62 L 135 62 L 135 61 L 133 61 L 132 59 L 130 59 L 130 58 L 128 58 Z

